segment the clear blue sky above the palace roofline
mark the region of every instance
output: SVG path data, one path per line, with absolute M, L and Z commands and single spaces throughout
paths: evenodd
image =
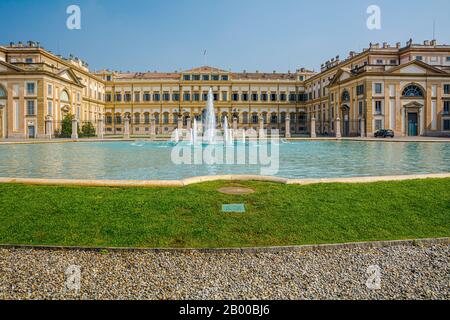
M 66 28 L 79 5 L 81 30 Z M 366 27 L 381 8 L 382 29 Z M 35 40 L 91 69 L 174 71 L 208 65 L 233 71 L 318 70 L 369 42 L 450 44 L 448 0 L 0 0 L 0 43 Z M 20 13 L 20 14 L 19 14 Z

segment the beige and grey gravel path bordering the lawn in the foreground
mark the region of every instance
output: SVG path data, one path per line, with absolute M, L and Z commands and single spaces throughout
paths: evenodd
M 449 245 L 272 253 L 0 249 L 0 299 L 450 299 Z M 80 290 L 67 268 L 80 268 Z M 367 280 L 377 265 L 381 288 Z M 74 271 L 75 270 L 75 271 Z M 373 271 L 375 270 L 375 271 Z M 71 270 L 77 272 L 77 267 Z

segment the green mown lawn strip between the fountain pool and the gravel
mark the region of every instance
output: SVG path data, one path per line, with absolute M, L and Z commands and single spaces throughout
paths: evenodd
M 229 182 L 186 188 L 0 184 L 0 243 L 244 247 L 450 236 L 450 179 L 310 186 Z M 221 212 L 245 203 L 246 214 Z

